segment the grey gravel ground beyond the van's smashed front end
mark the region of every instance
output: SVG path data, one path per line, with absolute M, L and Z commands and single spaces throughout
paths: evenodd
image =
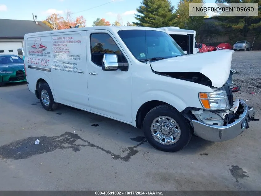
M 261 114 L 261 51 L 236 51 L 232 56 L 231 68 L 240 72 L 234 74 L 233 82 L 241 85 L 234 98 L 243 98 L 255 108 L 260 118 Z M 255 94 L 250 94 L 254 92 Z

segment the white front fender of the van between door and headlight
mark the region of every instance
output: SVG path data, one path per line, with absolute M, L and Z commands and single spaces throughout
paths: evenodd
M 133 67 L 132 77 L 135 118 L 139 108 L 148 101 L 162 101 L 181 112 L 187 107 L 202 108 L 199 99 L 191 97 L 198 97 L 200 91 L 213 92 L 208 86 L 155 74 L 149 63 Z

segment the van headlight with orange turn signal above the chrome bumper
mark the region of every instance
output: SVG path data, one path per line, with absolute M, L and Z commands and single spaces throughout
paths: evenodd
M 225 90 L 218 90 L 211 93 L 200 92 L 199 100 L 206 110 L 229 109 L 229 101 Z

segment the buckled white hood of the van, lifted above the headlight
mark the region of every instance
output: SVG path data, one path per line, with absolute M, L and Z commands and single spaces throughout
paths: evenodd
M 220 88 L 229 78 L 234 50 L 190 54 L 151 62 L 156 72 L 200 72 Z

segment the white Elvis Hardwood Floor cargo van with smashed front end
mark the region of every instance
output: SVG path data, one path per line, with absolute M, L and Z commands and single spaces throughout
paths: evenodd
M 159 150 L 181 150 L 193 133 L 226 141 L 256 120 L 233 100 L 233 50 L 186 55 L 160 29 L 117 26 L 30 33 L 24 43 L 27 85 L 45 110 L 60 103 L 131 124 Z

